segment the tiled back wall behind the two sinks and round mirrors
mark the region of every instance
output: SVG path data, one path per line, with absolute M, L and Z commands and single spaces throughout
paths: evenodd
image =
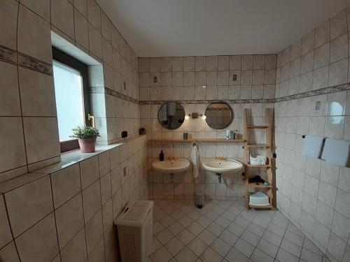
M 265 123 L 265 108 L 273 108 L 276 82 L 276 55 L 232 55 L 209 57 L 143 57 L 139 58 L 139 85 L 141 126 L 148 138 L 225 138 L 225 129 L 212 129 L 204 119 L 188 119 L 175 130 L 162 128 L 158 110 L 166 101 L 178 101 L 186 114 L 205 113 L 214 101 L 225 101 L 234 112 L 234 119 L 227 129 L 243 133 L 244 108 L 251 109 L 251 123 Z M 252 143 L 262 143 L 265 131 L 252 131 Z M 243 160 L 243 143 L 197 143 L 201 157 L 231 157 Z M 190 157 L 192 143 L 148 143 L 149 194 L 152 198 L 193 198 L 198 190 L 209 199 L 241 199 L 245 184 L 241 173 L 223 175 L 218 182 L 216 175 L 201 170 L 200 177 L 193 178 L 192 170 L 174 175 L 152 170 L 152 163 L 159 157 Z M 265 175 L 264 170 L 255 173 Z

